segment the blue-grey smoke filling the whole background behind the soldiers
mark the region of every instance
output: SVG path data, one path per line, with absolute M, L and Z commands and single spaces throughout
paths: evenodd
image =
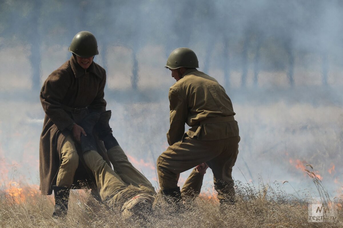
M 310 163 L 332 195 L 341 192 L 341 1 L 8 0 L 0 6 L 3 174 L 16 164 L 38 182 L 39 89 L 70 57 L 73 36 L 88 30 L 99 45 L 95 62 L 107 71 L 114 134 L 154 185 L 175 82 L 164 66 L 172 50 L 186 46 L 233 101 L 241 136 L 237 180 L 314 187 L 303 171 Z M 206 174 L 206 182 L 211 178 Z

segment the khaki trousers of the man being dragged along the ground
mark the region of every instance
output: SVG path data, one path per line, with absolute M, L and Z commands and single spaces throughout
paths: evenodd
M 116 167 L 121 172 L 128 170 L 131 172 L 128 174 L 121 174 L 124 179 L 127 178 L 128 180 L 130 175 L 139 176 L 139 178 L 130 178 L 130 183 L 124 182 L 123 179 L 113 169 L 111 169 L 106 161 L 103 160 L 97 151 L 88 150 L 84 152 L 83 157 L 85 163 L 93 172 L 101 199 L 108 206 L 121 207 L 126 201 L 137 195 L 144 195 L 144 197 L 150 198 L 151 201 L 154 201 L 154 197 L 152 195 L 155 193 L 155 191 L 152 191 L 152 189 L 148 187 L 137 187 L 151 186 L 151 183 L 146 178 L 142 178 L 142 174 L 140 174 L 137 170 L 129 167 L 127 164 L 128 161 L 123 162 L 125 164 L 123 166 L 118 165 L 117 163 Z M 110 161 L 112 162 L 112 160 Z

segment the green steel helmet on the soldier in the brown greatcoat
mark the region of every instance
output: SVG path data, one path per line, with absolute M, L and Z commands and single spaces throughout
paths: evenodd
M 69 51 L 82 58 L 99 54 L 95 36 L 88 31 L 81 31 L 74 36 Z

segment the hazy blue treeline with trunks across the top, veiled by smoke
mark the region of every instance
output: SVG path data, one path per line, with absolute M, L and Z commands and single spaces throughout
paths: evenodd
M 196 50 L 203 71 L 223 70 L 226 87 L 237 70 L 246 86 L 248 69 L 256 86 L 259 72 L 275 70 L 286 72 L 294 86 L 299 65 L 318 69 L 327 85 L 330 67 L 342 65 L 342 10 L 339 0 L 7 0 L 0 2 L 0 51 L 29 47 L 37 90 L 42 47 L 69 45 L 81 30 L 96 36 L 105 68 L 111 46 L 132 50 L 133 89 L 139 82 L 137 53 L 147 45 L 163 46 L 166 57 L 181 46 Z

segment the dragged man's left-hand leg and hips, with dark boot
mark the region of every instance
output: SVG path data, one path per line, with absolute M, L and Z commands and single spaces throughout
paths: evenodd
M 96 151 L 91 135 L 98 113 L 88 115 L 81 126 L 87 136 L 81 135 L 81 147 L 86 165 L 92 170 L 102 200 L 110 208 L 118 208 L 124 218 L 140 215 L 142 208 L 152 208 L 154 197 L 141 188 L 127 185 Z M 143 213 L 145 215 L 145 213 Z

